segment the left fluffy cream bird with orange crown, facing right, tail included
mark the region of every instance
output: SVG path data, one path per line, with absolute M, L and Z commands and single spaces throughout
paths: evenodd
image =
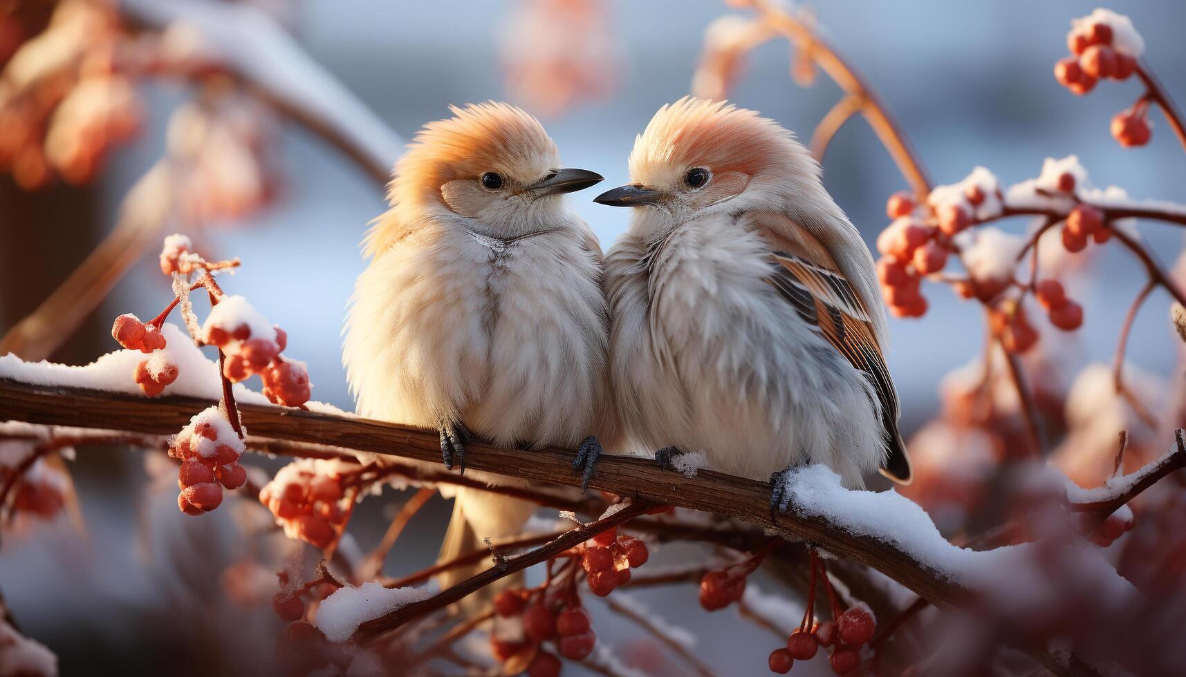
M 451 110 L 408 146 L 366 236 L 344 349 L 358 413 L 438 429 L 449 470 L 465 471 L 472 432 L 508 448 L 580 447 L 578 470 L 592 471 L 591 435 L 612 421 L 608 311 L 601 250 L 563 193 L 601 177 L 562 168 L 518 108 Z M 457 490 L 441 560 L 518 534 L 534 507 Z

